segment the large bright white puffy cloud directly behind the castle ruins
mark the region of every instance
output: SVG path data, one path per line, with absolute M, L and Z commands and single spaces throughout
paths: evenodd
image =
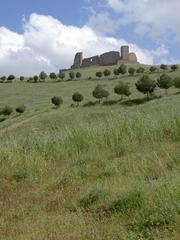
M 154 53 L 124 39 L 99 35 L 87 25 L 67 26 L 51 16 L 32 14 L 24 23 L 23 34 L 0 28 L 0 75 L 32 75 L 44 70 L 68 68 L 78 51 L 84 57 L 119 50 L 130 45 L 142 63 L 152 64 Z

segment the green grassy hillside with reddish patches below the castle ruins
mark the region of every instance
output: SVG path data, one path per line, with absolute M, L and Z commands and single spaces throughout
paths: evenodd
M 133 94 L 118 101 L 120 79 L 0 84 L 0 107 L 25 104 L 0 128 L 0 239 L 179 240 L 180 94 L 146 101 L 141 75 L 123 76 Z M 150 74 L 157 79 L 161 72 Z M 180 70 L 169 72 L 179 76 Z M 102 84 L 114 104 L 95 101 Z M 84 95 L 71 107 L 75 91 Z M 64 103 L 53 109 L 51 97 Z

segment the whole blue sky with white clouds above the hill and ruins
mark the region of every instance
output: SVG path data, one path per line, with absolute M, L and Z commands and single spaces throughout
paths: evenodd
M 141 63 L 180 63 L 180 0 L 0 0 L 0 76 L 33 75 L 129 44 Z

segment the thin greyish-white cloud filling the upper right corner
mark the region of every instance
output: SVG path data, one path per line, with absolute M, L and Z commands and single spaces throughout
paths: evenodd
M 135 33 L 148 33 L 180 44 L 180 0 L 107 0 L 108 6 L 119 13 L 119 21 L 135 24 Z

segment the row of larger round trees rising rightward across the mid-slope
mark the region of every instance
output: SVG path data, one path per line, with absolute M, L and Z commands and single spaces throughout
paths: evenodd
M 139 92 L 147 94 L 147 97 L 149 98 L 157 86 L 161 89 L 165 89 L 165 94 L 167 94 L 167 90 L 172 86 L 180 89 L 180 77 L 172 79 L 169 75 L 162 74 L 156 82 L 151 79 L 149 75 L 143 75 L 136 82 L 135 86 Z M 124 96 L 129 97 L 131 95 L 130 85 L 121 81 L 114 87 L 114 93 L 121 95 L 121 99 L 123 99 Z M 102 99 L 107 99 L 110 93 L 104 89 L 102 85 L 97 85 L 93 90 L 92 95 L 101 102 Z M 83 95 L 79 92 L 75 92 L 72 95 L 72 100 L 76 102 L 77 105 L 79 105 L 83 99 Z M 63 103 L 62 97 L 57 96 L 53 97 L 51 101 L 56 107 L 59 107 Z

